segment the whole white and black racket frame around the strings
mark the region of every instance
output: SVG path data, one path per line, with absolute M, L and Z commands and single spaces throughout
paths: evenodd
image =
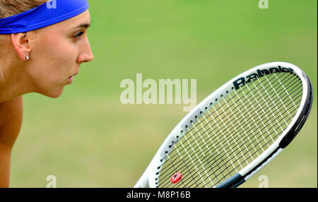
M 261 170 L 261 168 L 271 162 L 271 160 L 281 153 L 281 151 L 290 143 L 290 141 L 295 138 L 305 123 L 312 106 L 313 91 L 310 79 L 300 68 L 298 68 L 298 66 L 286 62 L 271 62 L 255 66 L 254 68 L 241 73 L 235 78 L 232 78 L 232 80 L 222 85 L 216 91 L 211 93 L 211 95 L 208 95 L 208 97 L 201 101 L 199 105 L 194 107 L 194 109 L 192 109 L 192 111 L 189 112 L 182 119 L 182 121 L 177 124 L 177 126 L 175 126 L 175 129 L 170 132 L 163 144 L 160 146 L 158 152 L 155 153 L 153 160 L 151 160 L 151 163 L 148 165 L 145 172 L 143 172 L 141 178 L 136 183 L 134 188 L 158 187 L 160 169 L 165 161 L 165 156 L 172 151 L 172 145 L 176 143 L 179 138 L 182 138 L 184 133 L 187 133 L 188 126 L 195 124 L 197 119 L 201 117 L 202 113 L 205 114 L 207 110 L 211 109 L 212 105 L 216 105 L 216 100 L 222 100 L 228 95 L 228 93 L 232 93 L 232 91 L 235 90 L 235 85 L 233 82 L 240 78 L 245 78 L 252 73 L 258 73 L 257 70 L 269 70 L 271 68 L 278 68 L 278 66 L 281 68 L 292 69 L 293 73 L 295 73 L 302 82 L 302 100 L 295 117 L 293 117 L 288 127 L 283 131 L 283 133 L 281 133 L 278 139 L 274 141 L 263 153 L 261 153 L 261 155 L 250 162 L 249 165 L 244 167 L 242 170 L 237 172 L 237 174 L 214 187 L 223 188 L 240 186 L 240 184 L 245 182 L 256 172 Z

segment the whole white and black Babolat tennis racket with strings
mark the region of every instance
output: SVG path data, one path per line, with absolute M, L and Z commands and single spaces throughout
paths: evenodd
M 312 99 L 310 79 L 293 64 L 249 69 L 177 124 L 134 187 L 240 186 L 295 138 Z

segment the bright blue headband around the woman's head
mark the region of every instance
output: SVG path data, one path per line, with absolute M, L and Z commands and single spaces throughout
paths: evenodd
M 51 0 L 16 16 L 0 19 L 0 35 L 29 32 L 78 16 L 88 9 L 87 0 Z

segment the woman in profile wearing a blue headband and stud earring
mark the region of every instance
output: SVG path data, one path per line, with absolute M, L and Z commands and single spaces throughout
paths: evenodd
M 0 187 L 8 187 L 22 95 L 59 97 L 93 54 L 87 0 L 0 0 L 0 8 Z

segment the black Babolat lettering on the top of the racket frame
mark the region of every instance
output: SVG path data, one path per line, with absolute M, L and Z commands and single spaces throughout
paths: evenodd
M 251 81 L 254 81 L 257 78 L 261 78 L 264 75 L 268 75 L 271 73 L 278 73 L 278 72 L 294 73 L 293 71 L 294 70 L 291 68 L 285 68 L 285 67 L 281 67 L 281 66 L 272 67 L 269 69 L 257 69 L 256 73 L 251 73 L 251 74 L 249 74 L 249 76 L 246 76 L 245 78 L 244 77 L 238 78 L 237 80 L 235 80 L 233 82 L 233 85 L 234 85 L 235 90 L 237 90 L 237 89 L 241 88 L 243 85 L 245 85 Z

